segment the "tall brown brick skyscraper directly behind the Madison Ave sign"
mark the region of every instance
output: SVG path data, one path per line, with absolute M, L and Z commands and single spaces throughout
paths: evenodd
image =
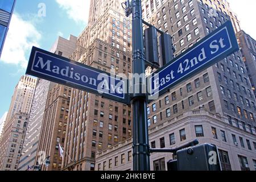
M 131 72 L 131 21 L 121 2 L 91 1 L 89 25 L 71 59 L 109 73 Z M 72 89 L 63 170 L 94 170 L 98 151 L 130 137 L 131 107 Z

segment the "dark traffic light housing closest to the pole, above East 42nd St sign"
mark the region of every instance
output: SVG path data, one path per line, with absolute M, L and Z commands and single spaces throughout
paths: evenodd
M 159 65 L 158 34 L 155 27 L 144 30 L 146 60 Z

